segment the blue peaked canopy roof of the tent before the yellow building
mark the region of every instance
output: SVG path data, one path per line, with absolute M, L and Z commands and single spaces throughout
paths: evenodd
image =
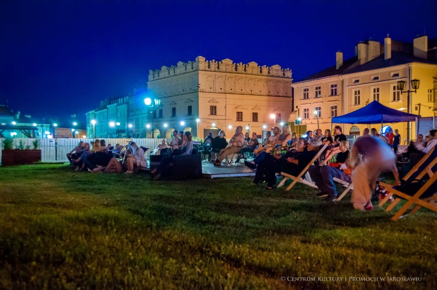
M 332 123 L 382 124 L 415 121 L 418 115 L 408 114 L 372 101 L 369 105 L 349 114 L 333 117 Z

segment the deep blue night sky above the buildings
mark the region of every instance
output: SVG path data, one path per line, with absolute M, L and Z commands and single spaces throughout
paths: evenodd
M 293 79 L 372 37 L 437 37 L 437 1 L 0 1 L 0 103 L 67 119 L 144 87 L 149 69 L 230 58 Z

